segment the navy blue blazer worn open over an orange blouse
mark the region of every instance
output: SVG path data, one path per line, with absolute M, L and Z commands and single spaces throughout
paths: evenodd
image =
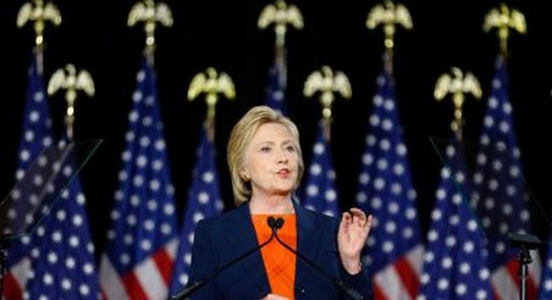
M 324 269 L 339 277 L 371 299 L 368 270 L 349 275 L 337 252 L 339 220 L 310 211 L 294 204 L 297 220 L 297 251 Z M 285 225 L 284 225 L 285 226 Z M 240 205 L 218 218 L 202 220 L 196 227 L 192 249 L 189 284 L 210 276 L 221 266 L 259 245 L 249 213 L 249 203 Z M 282 248 L 282 250 L 285 250 Z M 296 299 L 345 299 L 330 280 L 311 269 L 298 258 L 295 279 Z M 270 294 L 270 285 L 259 251 L 222 271 L 199 290 L 191 299 L 262 299 Z

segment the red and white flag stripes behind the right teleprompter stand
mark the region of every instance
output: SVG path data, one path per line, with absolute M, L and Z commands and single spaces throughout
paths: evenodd
M 533 261 L 529 264 L 527 280 L 527 299 L 537 299 L 539 283 L 542 276 L 542 264 L 539 253 L 531 251 Z M 497 300 L 518 300 L 521 282 L 518 276 L 519 260 L 511 259 L 504 266 L 496 269 L 491 275 L 493 293 Z

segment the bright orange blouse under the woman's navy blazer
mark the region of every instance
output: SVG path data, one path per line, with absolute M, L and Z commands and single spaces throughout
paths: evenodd
M 272 234 L 272 230 L 266 223 L 266 219 L 269 216 L 284 218 L 284 226 L 277 232 L 278 237 L 293 248 L 293 250 L 297 250 L 297 223 L 296 216 L 293 213 L 284 215 L 252 215 L 259 244 L 270 239 L 270 235 Z M 261 248 L 261 256 L 263 257 L 263 264 L 272 293 L 293 299 L 295 294 L 295 254 L 280 245 L 276 239 L 273 239 L 268 245 Z

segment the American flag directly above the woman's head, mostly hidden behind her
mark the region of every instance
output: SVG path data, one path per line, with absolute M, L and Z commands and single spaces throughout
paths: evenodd
M 285 50 L 276 50 L 274 65 L 268 71 L 268 87 L 266 88 L 266 105 L 274 110 L 287 114 L 286 84 L 287 67 Z

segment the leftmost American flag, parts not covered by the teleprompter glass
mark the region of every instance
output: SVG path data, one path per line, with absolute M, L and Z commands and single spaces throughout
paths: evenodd
M 24 170 L 38 157 L 44 147 L 52 145 L 52 120 L 48 108 L 48 98 L 44 88 L 39 63 L 42 58 L 40 50 L 34 50 L 29 67 L 29 85 L 27 101 L 23 114 L 22 139 L 19 146 L 18 167 L 15 177 L 19 181 L 24 177 Z M 10 214 L 8 214 L 8 217 Z M 13 216 L 15 220 L 15 215 Z M 4 297 L 21 299 L 27 283 L 30 268 L 29 239 L 25 243 L 15 241 L 7 261 L 7 274 L 4 278 Z

